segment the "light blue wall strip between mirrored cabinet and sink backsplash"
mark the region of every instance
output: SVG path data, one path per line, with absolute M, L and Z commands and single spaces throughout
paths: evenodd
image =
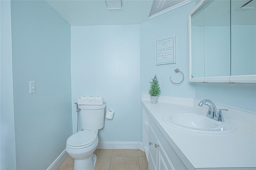
M 196 83 L 196 98 L 256 113 L 255 83 Z

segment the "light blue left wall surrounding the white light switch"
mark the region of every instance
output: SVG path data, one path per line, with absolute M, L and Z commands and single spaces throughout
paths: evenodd
M 16 166 L 47 169 L 72 134 L 70 25 L 46 1 L 11 1 L 11 16 Z

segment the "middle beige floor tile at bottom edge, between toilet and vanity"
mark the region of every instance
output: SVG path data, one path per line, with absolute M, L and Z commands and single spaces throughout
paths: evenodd
M 138 156 L 114 156 L 111 159 L 110 170 L 140 170 Z

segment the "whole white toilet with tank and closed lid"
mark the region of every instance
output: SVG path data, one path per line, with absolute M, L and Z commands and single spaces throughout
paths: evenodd
M 78 105 L 82 130 L 67 139 L 66 152 L 74 158 L 74 170 L 93 170 L 98 130 L 104 127 L 105 105 Z

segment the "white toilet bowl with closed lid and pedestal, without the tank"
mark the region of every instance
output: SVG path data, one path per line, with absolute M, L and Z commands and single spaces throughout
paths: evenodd
M 74 158 L 74 170 L 93 170 L 98 145 L 98 130 L 80 130 L 71 135 L 66 143 L 66 152 Z

